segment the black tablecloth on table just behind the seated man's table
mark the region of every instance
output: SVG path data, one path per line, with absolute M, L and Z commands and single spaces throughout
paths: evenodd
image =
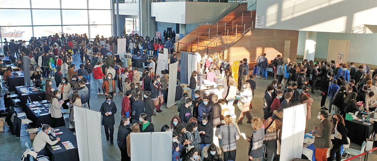
M 38 107 L 44 107 L 47 111 L 49 110 L 49 106 L 44 106 L 42 104 L 42 106 L 38 106 Z M 34 108 L 34 107 L 32 107 Z M 30 109 L 29 105 L 25 104 L 25 106 L 23 107 L 23 111 L 25 112 L 26 114 L 26 117 L 28 117 L 29 120 L 32 121 L 31 125 L 32 126 L 35 126 L 36 128 L 38 127 L 41 127 L 41 124 L 48 124 L 48 125 L 51 125 L 51 123 L 53 123 L 53 119 L 51 117 L 50 114 L 47 114 L 47 115 L 39 115 L 38 116 L 38 113 L 35 113 L 34 110 Z M 44 111 L 44 110 L 41 110 L 40 114 L 46 114 L 48 112 Z M 64 118 L 62 117 L 60 120 L 59 120 L 60 125 L 64 124 Z M 51 125 L 53 126 L 53 125 Z

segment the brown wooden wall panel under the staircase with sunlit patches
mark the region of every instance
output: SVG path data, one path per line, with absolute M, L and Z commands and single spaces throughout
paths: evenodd
M 284 55 L 284 40 L 290 40 L 289 58 L 296 61 L 298 35 L 295 30 L 253 29 L 227 50 L 226 59 L 233 62 L 247 58 L 255 62 L 260 54 L 266 53 L 270 61 L 278 54 Z

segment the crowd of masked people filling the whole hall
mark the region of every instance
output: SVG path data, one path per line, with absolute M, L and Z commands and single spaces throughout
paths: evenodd
M 61 106 L 69 109 L 69 129 L 75 131 L 73 106 L 90 108 L 92 80 L 95 90 L 93 93 L 106 97 L 100 112 L 103 115 L 102 125 L 106 139 L 111 145 L 114 144 L 114 114 L 119 112 L 117 106 L 121 106 L 116 143 L 120 148 L 122 161 L 130 160 L 129 134 L 158 131 L 155 130 L 152 118 L 156 117 L 156 112 L 163 112 L 161 107 L 167 100 L 169 70 L 156 71 L 156 58 L 152 58 L 163 52 L 162 48 L 173 47 L 169 36 L 164 37 L 162 41 L 137 34 L 125 35 L 127 51 L 148 58 L 148 66 L 142 71 L 131 65 L 125 66 L 118 57 L 108 55 L 112 50 L 110 44 L 116 44 L 117 37 L 104 38 L 97 35 L 95 39 L 89 40 L 86 34 L 56 34 L 33 37 L 28 45 L 26 41 L 11 40 L 7 44 L 8 58 L 21 70 L 23 56 L 30 58 L 34 89 L 45 92 L 46 99 L 51 102 L 50 111 L 54 122 L 43 126 L 43 132 L 38 133 L 33 143 L 35 152 L 43 153 L 46 143 L 56 143 L 46 137 L 51 127 L 65 125 Z M 179 62 L 175 51 L 168 51 L 168 62 Z M 72 63 L 76 53 L 80 53 L 80 65 Z M 330 141 L 333 141 L 330 158 L 334 160 L 336 154 L 336 160 L 339 161 L 340 147 L 348 144 L 348 131 L 343 119 L 345 114 L 360 109 L 371 112 L 376 108 L 377 97 L 374 95 L 377 93 L 377 70 L 370 73 L 370 67 L 365 64 L 357 68 L 352 62 L 348 69 L 347 64 L 337 65 L 335 61 L 314 63 L 304 60 L 293 65 L 293 62 L 284 62 L 281 55 L 277 55 L 269 63 L 264 53 L 256 59 L 252 74 L 249 74 L 248 59 L 240 60 L 236 79 L 230 71 L 228 60 L 221 58 L 221 55 L 200 54 L 198 51 L 195 55 L 198 56 L 198 70 L 193 71 L 189 79 L 191 96 L 183 93 L 182 99 L 177 103 L 179 113 L 161 128 L 161 131 L 173 132 L 172 161 L 235 161 L 236 140 L 241 135 L 237 125 L 242 124 L 245 116 L 247 123 L 251 123 L 254 129 L 251 137 L 247 137 L 250 143 L 248 158 L 279 160 L 283 110 L 307 103 L 306 119 L 311 119 L 313 99 L 310 96 L 316 94 L 316 90 L 319 90 L 322 99 L 317 117 L 321 122 L 313 128 L 313 136 L 316 137 L 315 156 L 317 160 L 326 160 L 326 151 L 330 148 Z M 273 68 L 271 74 L 274 74 L 274 79 L 264 93 L 263 117 L 252 117 L 251 101 L 256 89 L 253 79 L 267 79 L 267 68 Z M 11 76 L 11 71 L 12 68 L 9 67 L 5 71 L 5 81 Z M 216 83 L 218 78 L 224 79 L 224 84 Z M 51 90 L 51 79 L 55 80 L 57 90 Z M 207 86 L 215 89 L 210 97 L 199 90 L 203 89 L 203 80 L 208 80 L 210 83 Z M 121 104 L 113 101 L 116 94 L 123 97 Z M 5 98 L 5 102 L 10 99 L 8 96 Z M 325 106 L 326 99 L 329 102 L 328 108 Z M 357 102 L 363 102 L 363 106 L 357 106 Z M 235 107 L 241 110 L 239 117 L 235 114 Z M 331 112 L 333 115 L 330 122 L 328 117 Z M 332 134 L 335 137 L 333 139 L 330 138 Z

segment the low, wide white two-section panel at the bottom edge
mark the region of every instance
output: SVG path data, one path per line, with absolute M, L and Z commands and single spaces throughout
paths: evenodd
M 130 133 L 131 161 L 171 160 L 172 135 L 173 132 Z

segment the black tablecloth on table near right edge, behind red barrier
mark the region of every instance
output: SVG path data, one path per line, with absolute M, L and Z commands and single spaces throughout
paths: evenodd
M 361 116 L 361 114 L 357 115 L 358 118 L 362 118 Z M 357 120 L 344 120 L 344 123 L 346 124 L 346 128 L 348 130 L 347 137 L 352 143 L 361 145 L 363 144 L 363 141 L 365 141 L 366 138 L 369 138 L 369 136 L 373 133 L 373 123 L 369 126 Z

